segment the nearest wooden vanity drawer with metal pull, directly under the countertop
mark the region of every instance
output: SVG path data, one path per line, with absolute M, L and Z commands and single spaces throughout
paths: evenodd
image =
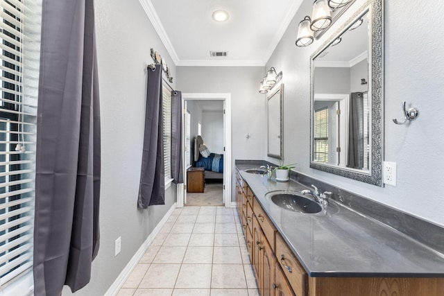
M 280 234 L 276 234 L 276 258 L 296 295 L 307 295 L 307 272 Z

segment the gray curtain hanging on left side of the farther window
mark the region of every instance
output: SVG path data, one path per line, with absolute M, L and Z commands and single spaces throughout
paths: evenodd
M 145 132 L 142 152 L 137 207 L 146 209 L 165 204 L 164 128 L 162 121 L 162 66 L 148 67 L 146 90 Z

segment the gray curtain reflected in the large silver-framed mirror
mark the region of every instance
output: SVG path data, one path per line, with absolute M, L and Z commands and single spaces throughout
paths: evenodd
M 364 96 L 352 92 L 348 126 L 348 164 L 350 168 L 364 167 Z

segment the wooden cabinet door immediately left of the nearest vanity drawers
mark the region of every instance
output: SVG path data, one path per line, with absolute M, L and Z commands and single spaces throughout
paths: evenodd
M 261 264 L 261 295 L 274 296 L 275 291 L 273 283 L 275 281 L 275 259 L 271 247 L 266 241 L 264 234 L 262 234 L 262 264 Z

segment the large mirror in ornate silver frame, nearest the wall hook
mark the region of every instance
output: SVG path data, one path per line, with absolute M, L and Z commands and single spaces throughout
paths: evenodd
M 383 186 L 382 0 L 369 0 L 311 56 L 310 167 Z

